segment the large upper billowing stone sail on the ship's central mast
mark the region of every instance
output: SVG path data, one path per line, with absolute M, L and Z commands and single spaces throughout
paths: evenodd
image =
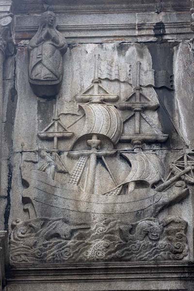
M 81 104 L 85 111 L 85 125 L 81 135 L 88 133 L 103 134 L 109 137 L 113 144 L 119 141 L 122 133 L 122 119 L 113 105 Z

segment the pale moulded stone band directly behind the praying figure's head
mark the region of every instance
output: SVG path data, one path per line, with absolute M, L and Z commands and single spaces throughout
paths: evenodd
M 38 29 L 40 16 L 15 16 L 16 41 L 31 39 Z M 161 22 L 162 21 L 162 22 Z M 147 13 L 144 18 L 140 14 L 123 13 L 97 15 L 57 15 L 58 30 L 64 33 L 68 43 L 105 41 L 141 41 L 143 37 L 154 40 L 158 35 L 163 39 L 190 39 L 190 13 Z M 162 23 L 162 24 L 161 24 Z M 165 28 L 165 32 L 162 28 Z

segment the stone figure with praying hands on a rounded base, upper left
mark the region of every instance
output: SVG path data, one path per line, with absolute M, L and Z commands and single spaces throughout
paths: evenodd
M 29 81 L 38 97 L 54 97 L 63 79 L 63 55 L 67 50 L 65 37 L 56 29 L 56 17 L 46 11 L 40 26 L 29 42 Z

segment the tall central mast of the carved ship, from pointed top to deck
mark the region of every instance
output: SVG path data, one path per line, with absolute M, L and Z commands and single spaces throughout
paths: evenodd
M 108 92 L 102 85 L 101 85 L 101 80 L 98 78 L 98 64 L 99 63 L 99 55 L 95 56 L 95 72 L 94 72 L 94 79 L 92 81 L 92 85 L 89 86 L 84 92 L 81 94 L 77 95 L 75 98 L 76 100 L 81 103 L 81 107 L 89 107 L 90 110 L 97 110 L 97 108 L 101 107 L 101 109 L 105 108 L 106 109 L 106 114 L 108 115 L 108 118 L 111 118 L 110 113 L 111 109 L 109 107 L 113 107 L 113 105 L 106 105 L 105 102 L 111 101 L 115 102 L 118 100 L 117 95 L 113 95 L 110 92 Z M 86 103 L 86 104 L 83 104 Z M 92 108 L 92 109 L 91 109 Z M 114 108 L 114 107 L 113 107 Z M 109 111 L 108 111 L 109 109 Z M 112 109 L 113 110 L 113 109 Z M 115 108 L 114 108 L 115 110 Z M 101 113 L 102 114 L 102 113 Z M 112 113 L 113 114 L 113 113 Z M 119 114 L 119 113 L 118 113 Z M 88 115 L 87 115 L 88 116 Z M 86 118 L 87 118 L 86 116 Z M 113 114 L 115 118 L 115 113 Z M 111 169 L 109 168 L 105 157 L 106 156 L 111 156 L 116 153 L 115 150 L 101 150 L 100 145 L 101 145 L 101 139 L 99 138 L 99 134 L 101 134 L 106 127 L 106 124 L 103 123 L 103 115 L 100 116 L 100 119 L 102 121 L 102 128 L 98 127 L 96 124 L 96 128 L 92 132 L 88 132 L 88 134 L 91 134 L 91 139 L 87 140 L 87 145 L 90 146 L 90 150 L 84 151 L 83 152 L 76 152 L 76 153 L 71 153 L 70 155 L 80 158 L 85 156 L 89 158 L 88 162 L 88 168 L 87 168 L 87 177 L 85 181 L 85 192 L 89 194 L 94 193 L 94 187 L 95 187 L 95 179 L 96 179 L 96 169 L 97 169 L 97 158 L 101 158 L 105 164 L 105 167 L 107 171 L 109 172 L 110 177 L 112 178 L 115 186 L 117 186 L 116 180 L 113 177 L 113 173 L 111 172 Z M 87 122 L 87 120 L 86 120 Z M 94 123 L 98 123 L 98 120 L 94 120 Z M 110 120 L 111 123 L 111 120 Z M 122 123 L 122 121 L 121 121 Z M 95 126 L 94 126 L 95 128 Z M 99 128 L 99 129 L 98 129 Z M 122 126 L 121 126 L 122 128 Z M 96 131 L 95 131 L 96 130 Z M 115 129 L 114 129 L 115 130 Z

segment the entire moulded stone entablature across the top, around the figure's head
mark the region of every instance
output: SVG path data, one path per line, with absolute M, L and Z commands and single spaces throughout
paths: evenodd
M 105 2 L 105 3 L 104 3 Z M 121 3 L 122 2 L 122 3 Z M 190 39 L 190 0 L 54 0 L 58 30 L 68 43 Z M 38 29 L 44 2 L 14 0 L 16 40 L 31 39 Z M 144 12 L 144 16 L 142 13 Z M 28 13 L 28 17 L 25 14 Z M 160 27 L 162 25 L 162 27 Z

